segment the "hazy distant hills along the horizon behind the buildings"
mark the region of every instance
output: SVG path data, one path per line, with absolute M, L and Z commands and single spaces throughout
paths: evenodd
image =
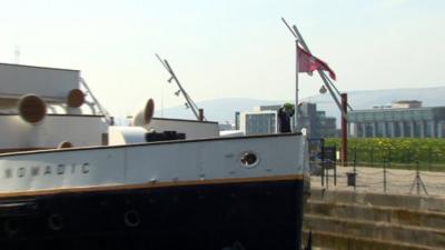
M 398 100 L 419 100 L 424 107 L 445 106 L 445 87 L 416 89 L 384 89 L 349 91 L 348 101 L 353 109 L 372 109 L 375 106 L 390 104 Z M 303 98 L 301 101 L 317 103 L 317 110 L 326 111 L 327 116 L 339 119 L 339 111 L 329 93 Z M 286 100 L 257 100 L 247 98 L 226 98 L 197 102 L 205 110 L 208 120 L 218 122 L 235 120 L 235 111 L 250 111 L 257 106 L 281 104 Z M 159 117 L 160 110 L 156 111 Z M 166 118 L 194 119 L 189 109 L 174 107 L 164 110 Z

